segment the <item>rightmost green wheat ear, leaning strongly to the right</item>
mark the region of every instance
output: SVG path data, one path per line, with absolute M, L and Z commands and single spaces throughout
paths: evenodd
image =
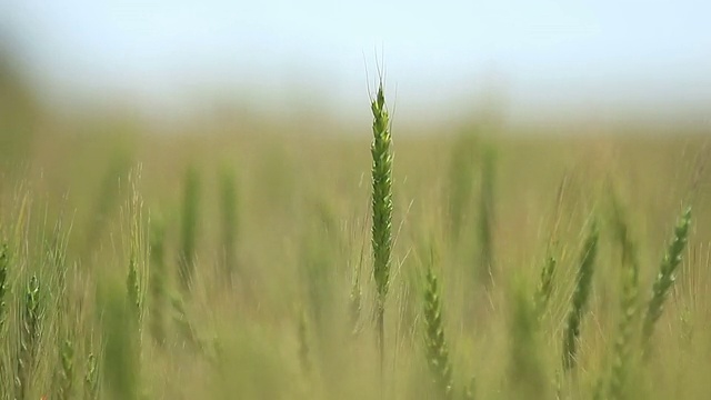
M 674 237 L 667 249 L 667 253 L 662 259 L 659 273 L 652 286 L 652 296 L 649 300 L 644 323 L 642 327 L 642 343 L 644 352 L 649 353 L 649 341 L 654 333 L 654 324 L 662 314 L 664 301 L 669 296 L 672 284 L 677 277 L 674 272 L 681 263 L 681 253 L 687 246 L 689 237 L 689 226 L 691 224 L 691 207 L 687 208 L 674 228 Z

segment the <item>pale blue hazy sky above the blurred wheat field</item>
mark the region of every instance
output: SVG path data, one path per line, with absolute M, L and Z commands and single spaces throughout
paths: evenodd
M 0 0 L 0 22 L 59 98 L 171 108 L 249 92 L 279 106 L 306 91 L 367 112 L 378 57 L 404 114 L 488 88 L 513 114 L 711 110 L 711 2 L 701 0 Z

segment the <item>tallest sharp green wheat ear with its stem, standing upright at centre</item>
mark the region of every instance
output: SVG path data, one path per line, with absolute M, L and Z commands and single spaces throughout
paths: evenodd
M 384 366 L 384 312 L 390 280 L 390 256 L 392 251 L 392 138 L 390 117 L 385 108 L 382 82 L 371 103 L 373 113 L 372 164 L 372 248 L 373 278 L 377 289 L 377 331 L 381 371 Z M 382 373 L 381 373 L 382 374 Z

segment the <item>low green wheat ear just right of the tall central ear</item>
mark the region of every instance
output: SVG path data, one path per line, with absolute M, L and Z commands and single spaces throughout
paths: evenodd
M 449 349 L 444 339 L 444 324 L 442 322 L 442 304 L 440 290 L 432 271 L 432 266 L 427 271 L 427 288 L 424 290 L 424 343 L 427 347 L 427 360 L 433 377 L 434 384 L 442 398 L 452 397 L 452 367 L 449 360 Z

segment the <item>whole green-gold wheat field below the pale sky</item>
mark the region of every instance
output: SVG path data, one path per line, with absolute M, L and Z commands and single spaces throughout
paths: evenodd
M 708 127 L 0 94 L 0 399 L 711 393 Z

